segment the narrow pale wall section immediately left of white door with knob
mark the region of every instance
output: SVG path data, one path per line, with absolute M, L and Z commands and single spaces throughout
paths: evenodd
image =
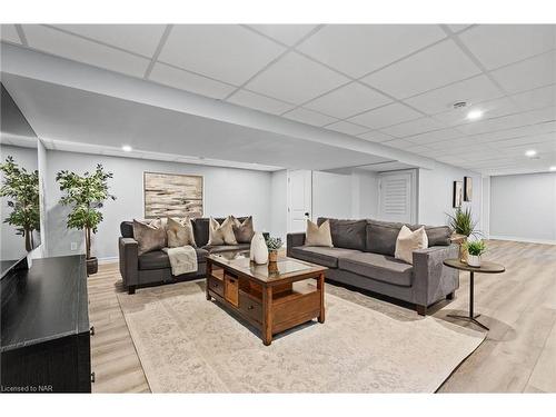
M 288 232 L 288 171 L 270 173 L 270 235 L 286 242 Z

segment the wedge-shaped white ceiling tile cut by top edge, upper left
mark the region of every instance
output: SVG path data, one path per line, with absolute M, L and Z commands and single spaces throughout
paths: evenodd
M 165 24 L 54 24 L 131 52 L 152 57 L 165 31 Z

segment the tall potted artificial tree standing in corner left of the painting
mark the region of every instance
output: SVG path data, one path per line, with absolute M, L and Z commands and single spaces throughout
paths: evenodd
M 108 193 L 108 179 L 112 172 L 106 172 L 99 163 L 95 172 L 85 172 L 79 176 L 67 170 L 59 171 L 56 180 L 60 183 L 60 191 L 64 196 L 60 198 L 62 206 L 71 206 L 68 215 L 68 228 L 85 230 L 85 247 L 87 256 L 87 274 L 97 274 L 98 259 L 91 257 L 91 235 L 96 234 L 102 221 L 100 209 L 105 200 L 116 197 Z

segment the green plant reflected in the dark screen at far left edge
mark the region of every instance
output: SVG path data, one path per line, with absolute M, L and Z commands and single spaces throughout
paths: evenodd
M 26 239 L 26 250 L 33 249 L 33 230 L 39 230 L 39 171 L 28 172 L 19 167 L 11 156 L 0 163 L 3 175 L 0 197 L 8 197 L 10 215 L 3 220 L 17 228 L 17 234 Z

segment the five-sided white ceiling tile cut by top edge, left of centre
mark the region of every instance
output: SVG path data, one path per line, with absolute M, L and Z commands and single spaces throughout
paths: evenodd
M 237 24 L 177 24 L 159 60 L 239 86 L 284 51 Z

